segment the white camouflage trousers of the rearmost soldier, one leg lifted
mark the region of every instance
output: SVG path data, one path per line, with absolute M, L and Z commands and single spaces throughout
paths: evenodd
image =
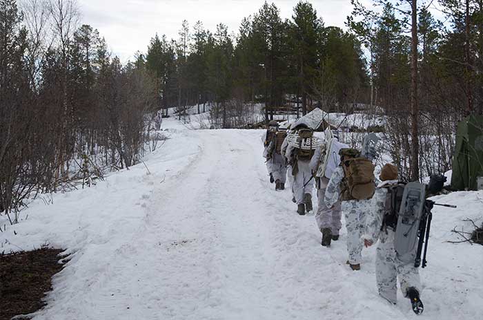
M 375 260 L 375 272 L 377 290 L 384 299 L 396 303 L 397 301 L 397 276 L 404 297 L 408 288 L 414 287 L 421 292 L 420 273 L 414 263 L 403 263 L 397 258 L 394 249 L 394 232 L 391 229 L 381 232 Z

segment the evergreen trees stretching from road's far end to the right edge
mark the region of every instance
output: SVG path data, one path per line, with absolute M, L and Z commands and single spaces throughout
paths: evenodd
M 266 121 L 365 106 L 385 117 L 384 152 L 402 178 L 451 169 L 457 122 L 483 112 L 483 0 L 352 3 L 348 31 L 324 26 L 306 1 L 286 20 L 266 2 L 236 36 L 184 21 L 179 39 L 156 35 L 138 62 L 156 79 L 157 105 L 180 117 L 210 104 L 212 125 L 231 128 L 246 124 L 255 103 Z M 435 3 L 444 23 L 431 14 Z

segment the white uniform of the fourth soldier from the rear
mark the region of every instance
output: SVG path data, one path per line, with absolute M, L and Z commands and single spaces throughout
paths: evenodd
M 298 172 L 293 177 L 293 185 L 292 191 L 293 196 L 295 197 L 295 202 L 297 205 L 300 205 L 304 202 L 305 194 L 310 194 L 312 196 L 312 190 L 314 188 L 314 179 L 312 177 L 312 169 L 311 169 L 311 161 L 302 161 L 302 160 L 295 160 L 293 159 L 293 151 L 296 149 L 293 146 L 288 145 L 285 152 L 285 158 L 288 159 L 289 162 L 297 161 Z

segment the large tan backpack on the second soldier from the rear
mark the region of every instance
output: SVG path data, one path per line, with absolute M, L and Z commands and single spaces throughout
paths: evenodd
M 344 148 L 339 151 L 344 169 L 342 180 L 342 200 L 367 200 L 375 192 L 374 164 L 360 156 L 356 149 Z

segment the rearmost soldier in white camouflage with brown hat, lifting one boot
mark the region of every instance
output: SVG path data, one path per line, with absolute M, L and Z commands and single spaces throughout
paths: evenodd
M 397 299 L 397 277 L 399 276 L 401 291 L 404 297 L 411 299 L 413 310 L 422 312 L 420 301 L 420 274 L 414 263 L 404 263 L 397 257 L 394 248 L 395 230 L 384 223 L 388 212 L 388 187 L 397 185 L 397 167 L 386 164 L 380 175 L 380 184 L 377 186 L 371 202 L 371 210 L 366 216 L 366 227 L 362 240 L 369 247 L 379 241 L 375 261 L 376 281 L 379 294 L 391 303 Z M 416 308 L 416 309 L 415 309 Z

